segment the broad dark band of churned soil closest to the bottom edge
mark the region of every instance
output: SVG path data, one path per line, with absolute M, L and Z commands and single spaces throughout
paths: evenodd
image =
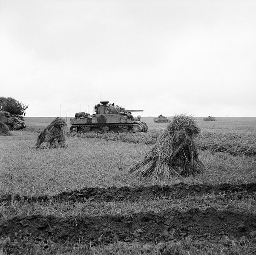
M 29 236 L 34 241 L 51 238 L 60 243 L 69 240 L 92 245 L 113 241 L 181 241 L 187 236 L 218 241 L 223 235 L 255 237 L 256 216 L 214 208 L 66 219 L 33 215 L 1 222 L 0 235 L 20 241 Z

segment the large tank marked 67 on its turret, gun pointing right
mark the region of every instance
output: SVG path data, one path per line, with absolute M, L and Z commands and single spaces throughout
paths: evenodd
M 80 133 L 138 133 L 147 132 L 146 122 L 141 121 L 141 116 L 134 118 L 131 112 L 143 110 L 126 110 L 114 103 L 101 101 L 95 105 L 96 113 L 76 113 L 75 118 L 70 119 L 70 132 Z

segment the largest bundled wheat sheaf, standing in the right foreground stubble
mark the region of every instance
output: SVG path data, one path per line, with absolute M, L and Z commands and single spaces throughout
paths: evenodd
M 167 130 L 157 139 L 144 159 L 130 167 L 130 172 L 153 178 L 189 176 L 201 172 L 202 162 L 193 137 L 200 133 L 191 116 L 175 115 Z

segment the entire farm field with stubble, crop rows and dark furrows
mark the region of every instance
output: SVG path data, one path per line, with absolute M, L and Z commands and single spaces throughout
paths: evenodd
M 158 181 L 129 166 L 166 123 L 36 150 L 53 119 L 0 136 L 0 254 L 256 254 L 256 118 L 196 117 L 204 172 Z

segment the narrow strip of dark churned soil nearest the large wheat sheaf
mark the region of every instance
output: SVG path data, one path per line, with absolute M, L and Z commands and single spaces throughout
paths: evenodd
M 87 200 L 93 200 L 97 202 L 102 201 L 141 201 L 155 198 L 185 198 L 187 195 L 203 195 L 203 194 L 226 194 L 230 195 L 236 193 L 241 197 L 246 197 L 256 193 L 256 183 L 250 184 L 183 184 L 179 183 L 172 186 L 150 186 L 150 187 L 109 187 L 109 188 L 98 188 L 98 187 L 86 187 L 81 190 L 74 190 L 71 192 L 63 192 L 58 195 L 49 196 L 20 196 L 5 194 L 0 197 L 0 202 L 8 202 L 14 200 L 24 200 L 26 202 L 35 201 L 78 201 L 83 202 Z

